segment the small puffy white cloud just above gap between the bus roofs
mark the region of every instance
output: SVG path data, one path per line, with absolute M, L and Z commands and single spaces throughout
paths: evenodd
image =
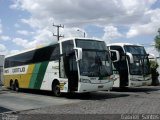
M 104 36 L 102 39 L 106 41 L 107 43 L 110 43 L 111 40 L 122 37 L 123 35 L 119 33 L 118 29 L 114 26 L 106 26 L 104 28 Z

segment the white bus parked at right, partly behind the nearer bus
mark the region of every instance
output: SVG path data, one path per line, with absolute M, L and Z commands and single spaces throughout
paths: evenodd
M 113 63 L 117 76 L 114 87 L 138 87 L 151 85 L 148 54 L 143 46 L 129 43 L 113 43 L 109 50 L 117 50 L 120 60 Z

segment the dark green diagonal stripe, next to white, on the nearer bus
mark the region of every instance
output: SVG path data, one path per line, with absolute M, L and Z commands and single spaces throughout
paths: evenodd
M 41 85 L 42 85 L 42 81 L 44 79 L 44 75 L 46 73 L 46 69 L 47 69 L 47 66 L 48 66 L 48 61 L 47 62 L 43 62 L 39 68 L 39 72 L 38 72 L 38 75 L 37 75 L 37 79 L 36 79 L 36 82 L 34 84 L 34 88 L 35 89 L 40 89 L 41 88 Z

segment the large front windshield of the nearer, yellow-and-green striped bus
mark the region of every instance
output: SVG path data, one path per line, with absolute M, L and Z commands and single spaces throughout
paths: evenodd
M 112 75 L 111 60 L 104 42 L 77 40 L 76 45 L 83 49 L 82 60 L 79 64 L 82 76 L 106 77 Z

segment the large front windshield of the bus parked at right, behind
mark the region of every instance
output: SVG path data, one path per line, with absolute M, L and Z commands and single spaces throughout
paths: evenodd
M 133 55 L 134 63 L 129 64 L 130 74 L 147 75 L 150 74 L 149 59 L 144 47 L 142 46 L 125 46 L 126 52 Z

